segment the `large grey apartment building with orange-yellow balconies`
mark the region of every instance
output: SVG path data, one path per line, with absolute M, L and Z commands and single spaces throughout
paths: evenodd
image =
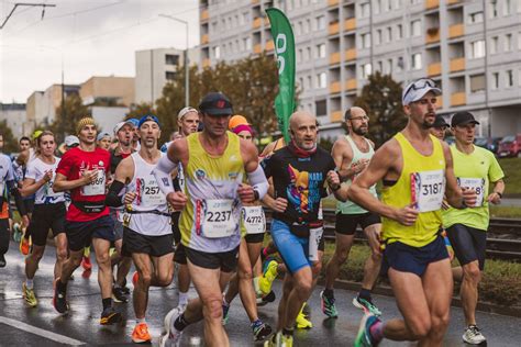
M 433 78 L 439 112 L 470 111 L 479 135 L 521 132 L 521 0 L 200 1 L 201 66 L 274 44 L 265 10 L 293 26 L 300 108 L 340 128 L 367 77 Z M 337 132 L 337 131 L 334 131 Z

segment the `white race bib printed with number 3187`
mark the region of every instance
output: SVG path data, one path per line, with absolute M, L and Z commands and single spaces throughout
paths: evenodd
M 440 210 L 445 194 L 445 174 L 443 170 L 411 174 L 411 188 L 419 212 Z

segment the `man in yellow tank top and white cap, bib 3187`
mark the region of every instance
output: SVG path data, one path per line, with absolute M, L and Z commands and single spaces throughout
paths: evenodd
M 383 323 L 364 315 L 355 346 L 376 346 L 384 337 L 441 346 L 448 324 L 453 281 L 443 238 L 441 206 L 474 205 L 476 193 L 457 187 L 448 146 L 429 134 L 441 90 L 430 79 L 403 90 L 403 131 L 385 143 L 348 189 L 348 198 L 383 216 L 383 273 L 389 277 L 403 320 Z M 369 189 L 384 182 L 381 201 Z M 445 183 L 446 182 L 446 183 Z M 446 186 L 446 189 L 445 189 Z

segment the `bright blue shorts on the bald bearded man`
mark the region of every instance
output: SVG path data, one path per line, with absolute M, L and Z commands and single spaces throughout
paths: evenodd
M 313 265 L 309 260 L 309 239 L 292 234 L 288 224 L 273 220 L 271 238 L 290 273 Z

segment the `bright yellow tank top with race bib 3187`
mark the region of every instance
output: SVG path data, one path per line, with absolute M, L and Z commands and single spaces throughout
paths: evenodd
M 440 141 L 430 135 L 433 152 L 423 156 L 402 133 L 395 135 L 401 148 L 403 167 L 393 186 L 384 187 L 381 201 L 398 209 L 415 202 L 420 211 L 411 226 L 383 217 L 381 233 L 387 243 L 400 242 L 412 247 L 423 247 L 436 238 L 442 225 L 441 203 L 445 192 L 445 156 Z

